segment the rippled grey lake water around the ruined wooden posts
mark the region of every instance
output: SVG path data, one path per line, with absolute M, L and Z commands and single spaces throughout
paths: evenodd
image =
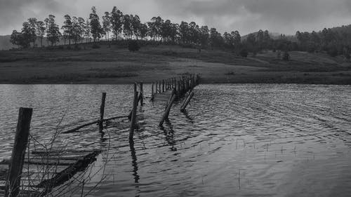
M 11 156 L 18 108 L 34 109 L 32 137 L 48 142 L 99 117 L 123 116 L 131 85 L 0 85 L 0 161 Z M 145 87 L 150 94 L 150 85 Z M 148 94 L 146 96 L 148 96 Z M 59 135 L 69 149 L 102 149 L 84 193 L 91 196 L 347 196 L 351 192 L 351 86 L 200 85 L 160 128 L 163 102 L 138 107 L 134 146 L 128 121 Z M 80 196 L 81 188 L 72 196 Z

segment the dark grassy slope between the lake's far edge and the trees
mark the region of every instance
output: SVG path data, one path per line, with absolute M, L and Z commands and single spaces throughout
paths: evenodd
M 244 58 L 222 50 L 199 53 L 179 46 L 145 46 L 132 53 L 107 45 L 0 51 L 0 83 L 147 83 L 197 73 L 203 83 L 351 84 L 351 64 L 342 57 L 290 55 L 285 62 L 272 51 Z

